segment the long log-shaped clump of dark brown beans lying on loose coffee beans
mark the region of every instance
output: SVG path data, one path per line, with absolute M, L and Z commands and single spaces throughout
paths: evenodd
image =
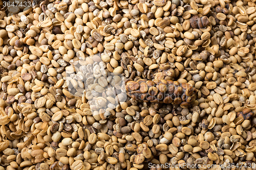
M 197 90 L 188 83 L 172 80 L 127 81 L 127 95 L 137 101 L 180 105 L 187 108 L 195 99 Z

